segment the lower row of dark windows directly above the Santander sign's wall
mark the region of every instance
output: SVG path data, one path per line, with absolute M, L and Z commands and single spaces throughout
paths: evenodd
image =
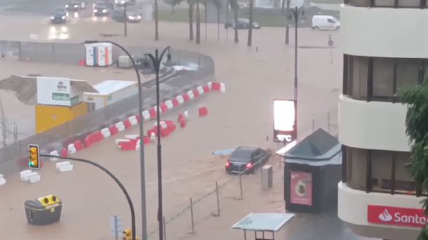
M 343 182 L 352 189 L 366 192 L 416 195 L 415 180 L 406 164 L 410 162 L 409 152 L 342 147 L 346 163 L 343 164 Z M 370 164 L 368 164 L 370 163 Z M 426 195 L 427 192 L 422 192 Z

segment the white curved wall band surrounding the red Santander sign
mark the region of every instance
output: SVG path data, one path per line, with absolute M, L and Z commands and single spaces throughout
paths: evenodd
M 420 229 L 415 227 L 400 227 L 393 225 L 377 225 L 367 221 L 368 205 L 392 206 L 398 208 L 422 208 L 424 197 L 416 197 L 413 195 L 404 194 L 386 194 L 378 192 L 366 193 L 360 190 L 347 187 L 343 182 L 338 184 L 338 199 L 337 199 L 337 215 L 345 222 L 353 225 L 361 225 L 368 227 L 382 227 L 384 231 L 370 231 L 370 229 L 362 230 L 363 236 L 380 237 L 384 239 L 396 239 L 394 236 L 402 233 L 403 229 L 408 229 L 416 235 Z M 400 230 L 394 232 L 394 230 Z M 360 234 L 361 234 L 360 232 Z M 389 235 L 389 232 L 393 234 Z M 373 234 L 378 234 L 373 235 Z M 398 239 L 403 239 L 398 238 Z M 412 239 L 412 238 L 410 238 Z M 413 238 L 414 239 L 414 238 Z

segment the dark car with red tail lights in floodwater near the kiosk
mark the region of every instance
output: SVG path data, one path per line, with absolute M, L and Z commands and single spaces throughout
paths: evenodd
M 226 161 L 226 173 L 254 173 L 269 157 L 270 152 L 259 147 L 237 147 Z

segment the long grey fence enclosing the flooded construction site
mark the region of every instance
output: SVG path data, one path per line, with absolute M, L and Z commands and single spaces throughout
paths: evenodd
M 143 53 L 153 52 L 155 48 L 127 47 L 131 54 L 142 56 Z M 113 51 L 118 51 L 113 49 Z M 0 41 L 0 52 L 7 55 L 18 56 L 21 60 L 38 62 L 62 62 L 65 64 L 77 64 L 84 58 L 84 46 L 81 44 L 51 44 L 51 43 L 27 43 L 19 41 Z M 174 49 L 173 61 L 182 65 L 194 65 L 197 71 L 180 74 L 170 79 L 161 79 L 161 101 L 168 100 L 206 84 L 213 80 L 214 61 L 207 55 L 180 51 Z M 119 55 L 116 55 L 116 57 Z M 156 105 L 154 91 L 154 79 L 143 84 L 142 94 L 144 108 Z M 0 173 L 10 175 L 27 167 L 27 147 L 29 143 L 44 146 L 44 152 L 58 150 L 62 146 L 83 140 L 88 133 L 98 131 L 105 126 L 114 124 L 119 119 L 138 113 L 138 95 L 109 105 L 96 112 L 90 112 L 78 119 L 69 121 L 44 133 L 32 135 L 11 145 L 0 148 Z

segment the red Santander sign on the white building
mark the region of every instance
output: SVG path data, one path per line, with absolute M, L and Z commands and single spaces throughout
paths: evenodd
M 421 228 L 428 223 L 428 215 L 424 215 L 424 211 L 417 208 L 368 205 L 367 221 L 382 225 Z

